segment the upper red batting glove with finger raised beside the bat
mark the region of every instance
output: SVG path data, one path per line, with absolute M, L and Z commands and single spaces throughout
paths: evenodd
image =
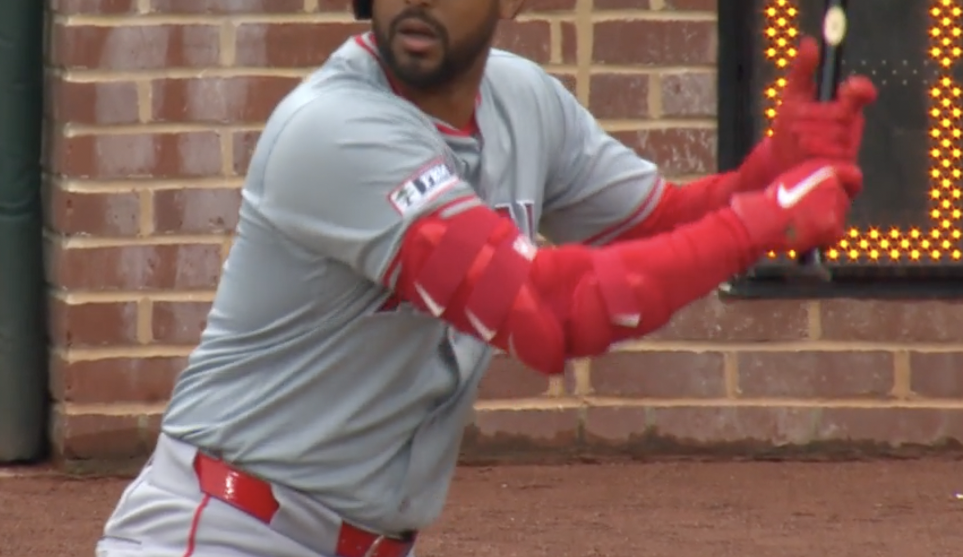
M 840 85 L 835 100 L 817 101 L 819 64 L 816 39 L 802 38 L 772 136 L 760 141 L 740 166 L 738 191 L 765 189 L 780 173 L 812 159 L 856 163 L 865 126 L 863 109 L 875 101 L 876 89 L 868 78 L 857 75 Z

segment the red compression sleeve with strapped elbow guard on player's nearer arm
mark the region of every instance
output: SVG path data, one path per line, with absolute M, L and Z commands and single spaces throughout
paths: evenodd
M 528 366 L 559 373 L 567 358 L 663 326 L 756 251 L 728 209 L 649 240 L 538 249 L 510 219 L 464 199 L 412 224 L 395 289 Z

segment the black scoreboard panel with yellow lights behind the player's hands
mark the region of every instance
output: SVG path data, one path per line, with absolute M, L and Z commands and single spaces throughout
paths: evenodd
M 742 138 L 741 152 L 730 145 L 730 160 L 720 160 L 733 166 L 769 133 L 800 36 L 820 36 L 824 2 L 720 4 L 719 111 L 746 113 L 720 115 L 720 143 Z M 864 194 L 845 238 L 823 250 L 838 284 L 818 290 L 849 295 L 857 286 L 874 291 L 899 282 L 928 285 L 929 293 L 959 283 L 963 291 L 963 0 L 852 0 L 848 7 L 844 73 L 869 76 L 879 98 L 867 109 L 860 153 Z M 746 129 L 724 129 L 724 121 Z M 768 254 L 736 290 L 797 285 L 795 257 Z

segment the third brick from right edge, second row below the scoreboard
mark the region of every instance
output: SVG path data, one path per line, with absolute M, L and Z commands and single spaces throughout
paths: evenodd
M 600 396 L 722 397 L 723 366 L 719 352 L 611 352 L 592 362 L 592 390 Z

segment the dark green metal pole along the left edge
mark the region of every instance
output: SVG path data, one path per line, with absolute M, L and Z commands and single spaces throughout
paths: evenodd
M 0 0 L 0 462 L 46 456 L 43 0 Z

